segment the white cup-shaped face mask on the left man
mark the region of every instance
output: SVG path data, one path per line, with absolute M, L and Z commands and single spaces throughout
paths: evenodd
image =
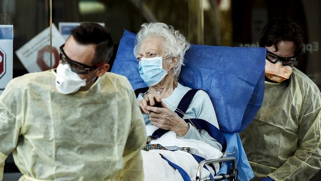
M 86 79 L 81 79 L 78 74 L 73 72 L 69 64 L 59 63 L 56 69 L 56 88 L 60 93 L 74 93 L 86 85 Z

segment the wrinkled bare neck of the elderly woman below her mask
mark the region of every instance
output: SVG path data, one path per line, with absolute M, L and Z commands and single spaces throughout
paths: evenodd
M 178 82 L 174 79 L 174 76 L 166 76 L 160 83 L 150 87 L 149 91 L 153 94 L 160 94 L 161 98 L 167 98 L 177 88 L 177 84 Z

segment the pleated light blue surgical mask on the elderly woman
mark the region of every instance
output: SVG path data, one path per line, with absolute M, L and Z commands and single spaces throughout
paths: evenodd
M 165 57 L 167 58 L 167 57 Z M 142 57 L 138 64 L 140 77 L 147 86 L 155 86 L 167 75 L 168 69 L 162 68 L 162 57 L 144 58 Z

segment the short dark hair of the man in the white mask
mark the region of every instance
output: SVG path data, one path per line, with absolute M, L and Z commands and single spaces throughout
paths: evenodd
M 71 31 L 71 35 L 80 45 L 95 45 L 95 57 L 92 64 L 105 63 L 112 57 L 114 42 L 107 28 L 98 23 L 83 22 Z

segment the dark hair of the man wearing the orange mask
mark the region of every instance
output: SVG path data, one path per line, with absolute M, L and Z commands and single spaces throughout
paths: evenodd
M 295 56 L 302 54 L 302 30 L 294 21 L 285 18 L 273 19 L 263 28 L 259 44 L 261 47 L 274 45 L 278 51 L 277 44 L 281 41 L 294 42 Z

